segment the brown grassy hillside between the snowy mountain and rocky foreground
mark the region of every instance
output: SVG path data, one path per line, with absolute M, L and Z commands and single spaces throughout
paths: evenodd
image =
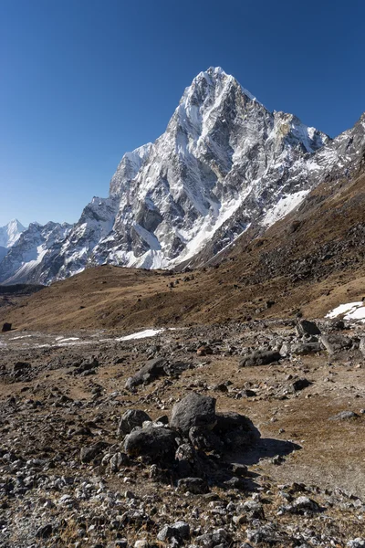
M 0 309 L 16 328 L 73 330 L 323 316 L 365 294 L 365 175 L 324 183 L 264 237 L 237 240 L 220 265 L 185 274 L 89 269 Z M 192 274 L 189 274 L 189 278 Z M 171 281 L 180 279 L 170 289 Z M 266 301 L 274 301 L 267 308 Z

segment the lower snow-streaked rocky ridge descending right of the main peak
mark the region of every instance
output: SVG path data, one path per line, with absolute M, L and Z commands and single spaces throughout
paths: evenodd
M 184 263 L 185 266 L 199 267 L 209 263 L 228 248 L 245 227 L 255 228 L 255 235 L 263 233 L 297 207 L 318 184 L 350 179 L 364 163 L 365 113 L 353 128 L 328 141 L 316 153 L 268 169 L 263 178 L 252 185 L 234 214 L 215 231 L 200 253 Z M 282 172 L 281 178 L 276 176 L 277 169 Z M 219 257 L 216 260 L 219 261 Z

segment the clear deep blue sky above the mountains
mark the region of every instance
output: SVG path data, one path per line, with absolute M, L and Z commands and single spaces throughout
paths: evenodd
M 335 136 L 365 111 L 363 0 L 1 0 L 0 226 L 74 222 L 221 66 Z

